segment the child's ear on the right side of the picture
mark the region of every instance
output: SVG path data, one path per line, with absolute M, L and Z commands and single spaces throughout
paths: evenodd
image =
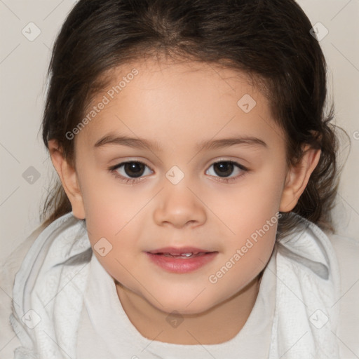
M 299 197 L 302 196 L 309 182 L 311 173 L 318 165 L 320 149 L 313 149 L 307 145 L 300 161 L 292 166 L 285 179 L 282 198 L 280 199 L 280 212 L 290 212 L 297 205 Z

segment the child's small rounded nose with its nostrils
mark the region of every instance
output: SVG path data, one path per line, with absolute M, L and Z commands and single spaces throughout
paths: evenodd
M 156 196 L 154 222 L 158 226 L 199 226 L 204 224 L 207 216 L 205 205 L 196 190 L 189 189 L 184 181 L 179 184 L 168 182 Z

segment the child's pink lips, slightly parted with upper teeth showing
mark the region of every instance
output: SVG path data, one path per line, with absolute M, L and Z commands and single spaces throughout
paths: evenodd
M 171 273 L 188 273 L 212 261 L 217 251 L 194 247 L 160 248 L 146 252 L 152 263 Z

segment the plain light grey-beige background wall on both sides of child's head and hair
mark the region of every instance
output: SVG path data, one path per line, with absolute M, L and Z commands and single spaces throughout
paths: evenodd
M 40 203 L 51 177 L 56 175 L 39 126 L 50 48 L 75 2 L 0 0 L 0 262 L 39 225 Z M 338 233 L 359 240 L 359 0 L 298 3 L 312 25 L 321 22 L 328 30 L 320 46 L 329 67 L 335 123 L 351 138 L 350 154 L 345 137 L 339 151 L 342 161 L 346 156 L 348 159 L 334 213 Z M 29 22 L 41 30 L 33 41 L 22 34 L 23 29 L 28 37 L 36 34 L 36 28 Z M 28 177 L 30 166 L 39 172 L 38 179 Z

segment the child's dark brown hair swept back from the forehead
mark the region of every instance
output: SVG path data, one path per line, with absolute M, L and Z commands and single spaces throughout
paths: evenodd
M 292 210 L 332 228 L 338 148 L 325 114 L 326 63 L 311 22 L 294 0 L 80 0 L 67 16 L 53 48 L 43 114 L 43 142 L 55 139 L 74 163 L 66 133 L 81 121 L 93 96 L 107 86 L 111 69 L 166 54 L 247 73 L 271 104 L 286 134 L 287 165 L 304 144 L 321 149 L 320 161 Z M 239 99 L 238 99 L 239 100 Z M 60 181 L 43 205 L 47 226 L 72 207 Z M 282 213 L 278 236 L 297 225 Z

